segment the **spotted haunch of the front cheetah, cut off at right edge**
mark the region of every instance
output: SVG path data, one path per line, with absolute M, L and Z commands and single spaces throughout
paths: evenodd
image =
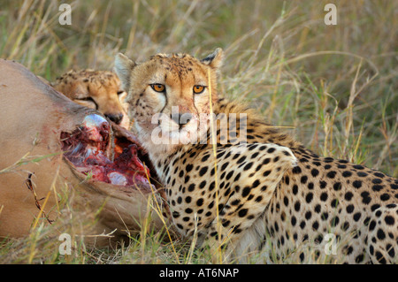
M 389 204 L 373 212 L 369 224 L 367 252 L 372 263 L 398 263 L 397 204 Z

